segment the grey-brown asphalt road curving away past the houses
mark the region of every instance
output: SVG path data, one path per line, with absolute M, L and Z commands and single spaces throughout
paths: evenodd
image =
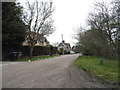
M 103 84 L 74 66 L 78 54 L 2 66 L 3 88 L 101 88 Z M 0 67 L 1 68 L 1 67 Z

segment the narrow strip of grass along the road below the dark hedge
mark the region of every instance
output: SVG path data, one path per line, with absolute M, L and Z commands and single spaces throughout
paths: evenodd
M 48 59 L 48 58 L 53 58 L 59 55 L 53 55 L 53 56 L 48 56 L 48 55 L 44 55 L 44 56 L 33 56 L 33 57 L 26 57 L 23 59 L 18 59 L 18 60 L 14 60 L 14 62 L 27 62 L 28 60 L 30 61 L 37 61 L 37 60 L 41 60 L 41 59 Z

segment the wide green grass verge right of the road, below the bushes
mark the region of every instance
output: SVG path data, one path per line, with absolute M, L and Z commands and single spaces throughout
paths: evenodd
M 103 59 L 103 64 L 100 64 L 100 57 L 80 56 L 74 64 L 86 70 L 89 75 L 95 76 L 108 84 L 117 84 L 118 82 L 118 61 Z

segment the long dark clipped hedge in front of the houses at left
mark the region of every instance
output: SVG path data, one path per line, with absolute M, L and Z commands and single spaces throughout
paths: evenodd
M 22 57 L 29 56 L 29 47 L 22 46 L 19 48 L 6 48 L 2 50 L 2 60 L 9 60 L 11 57 L 10 52 L 22 52 Z M 33 56 L 52 55 L 57 53 L 57 47 L 53 46 L 36 46 L 33 49 Z

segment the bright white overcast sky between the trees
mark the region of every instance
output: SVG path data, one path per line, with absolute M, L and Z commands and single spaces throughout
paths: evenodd
M 56 31 L 47 37 L 48 41 L 53 44 L 61 42 L 63 39 L 66 43 L 74 45 L 76 40 L 73 38 L 76 34 L 75 28 L 84 26 L 88 13 L 93 9 L 93 3 L 103 0 L 52 0 L 55 6 L 53 12 L 54 26 Z M 109 1 L 109 0 L 105 0 Z M 24 0 L 19 0 L 24 5 Z M 74 29 L 73 29 L 74 28 Z

